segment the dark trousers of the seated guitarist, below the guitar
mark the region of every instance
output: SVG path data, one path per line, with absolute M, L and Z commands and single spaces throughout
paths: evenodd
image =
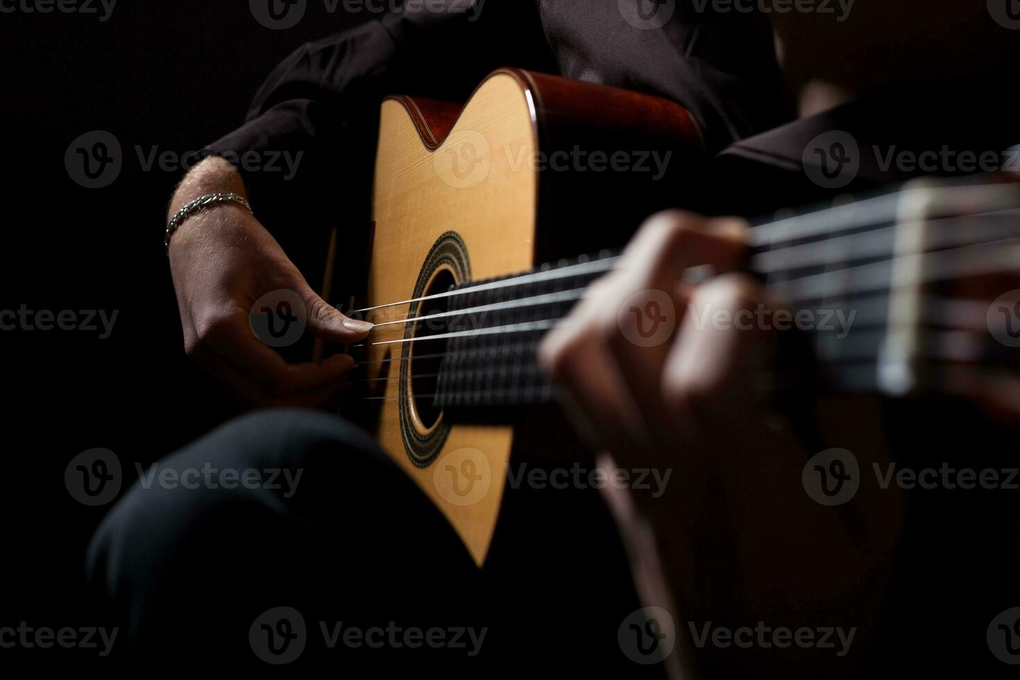
M 657 674 L 620 651 L 640 605 L 596 490 L 508 489 L 478 570 L 367 433 L 320 413 L 239 418 L 146 482 L 88 555 L 122 661 Z

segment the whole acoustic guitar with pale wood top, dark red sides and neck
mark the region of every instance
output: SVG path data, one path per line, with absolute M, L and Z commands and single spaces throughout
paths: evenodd
M 555 401 L 542 336 L 616 265 L 603 249 L 697 187 L 705 159 L 673 102 L 523 70 L 492 73 L 464 106 L 384 101 L 367 285 L 338 305 L 375 324 L 346 349 L 359 363 L 348 407 L 479 566 L 512 458 L 555 452 L 569 429 L 522 415 Z M 1018 210 L 1012 182 L 925 180 L 753 227 L 750 269 L 794 310 L 852 318 L 808 334 L 820 384 L 913 394 L 1013 359 L 967 281 L 1015 271 Z M 1020 345 L 1020 299 L 1001 306 Z M 651 328 L 661 311 L 646 312 Z

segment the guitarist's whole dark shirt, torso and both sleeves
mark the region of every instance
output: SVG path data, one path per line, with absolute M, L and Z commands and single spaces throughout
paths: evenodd
M 688 188 L 677 187 L 676 206 L 709 213 L 765 217 L 914 176 L 966 174 L 964 152 L 981 157 L 1020 142 L 1008 89 L 994 84 L 900 87 L 790 121 L 761 16 L 715 14 L 712 3 L 699 12 L 700 3 L 663 0 L 668 21 L 638 28 L 642 19 L 622 9 L 631 3 L 652 7 L 648 0 L 442 0 L 450 11 L 387 14 L 296 50 L 259 90 L 247 121 L 213 151 L 302 152 L 293 177 L 243 164 L 241 170 L 256 214 L 314 280 L 332 227 L 361 252 L 380 100 L 409 94 L 464 101 L 500 66 L 683 105 L 715 160 L 705 173 L 711 191 L 692 205 Z M 848 136 L 848 180 L 817 181 L 818 164 L 837 169 L 832 144 Z M 932 153 L 934 165 L 902 162 L 910 154 L 930 161 Z

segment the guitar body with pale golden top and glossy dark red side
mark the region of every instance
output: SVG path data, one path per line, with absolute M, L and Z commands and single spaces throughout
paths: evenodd
M 607 140 L 615 142 L 610 147 Z M 557 159 L 564 161 L 559 168 L 573 162 L 575 149 L 575 159 L 603 152 L 607 164 L 614 151 L 629 154 L 631 165 L 643 154 L 654 151 L 661 159 L 669 153 L 670 176 L 654 178 L 648 158 L 644 174 L 632 167 L 553 167 Z M 557 151 L 562 153 L 553 156 Z M 584 162 L 598 165 L 601 158 Z M 504 335 L 521 326 L 519 317 L 484 320 L 488 312 L 461 317 L 466 325 L 458 328 L 449 310 L 466 295 L 442 294 L 621 245 L 654 207 L 659 188 L 671 185 L 675 200 L 676 181 L 701 158 L 697 127 L 676 104 L 521 70 L 494 72 L 463 107 L 408 97 L 382 103 L 371 263 L 366 295 L 354 304 L 376 326 L 352 353 L 366 368 L 363 399 L 378 441 L 449 519 L 478 565 L 500 514 L 515 446 L 514 414 L 548 399 L 550 390 L 533 371 L 508 375 L 501 369 L 501 375 L 474 376 L 489 380 L 488 391 L 484 384 L 470 393 L 462 387 L 451 400 L 455 380 L 447 355 L 477 339 L 472 332 L 479 318 L 487 330 L 509 328 L 486 333 L 490 345 L 483 348 L 467 348 L 494 373 L 483 352 L 496 352 L 491 344 L 497 337 L 504 355 L 533 355 L 539 333 L 530 333 L 523 350 L 514 349 Z M 645 197 L 640 213 L 621 209 L 635 203 L 631 192 Z M 668 200 L 664 193 L 663 205 Z M 475 303 L 512 307 L 499 301 Z M 533 363 L 533 356 L 523 359 Z M 442 371 L 445 386 L 438 383 Z M 464 379 L 463 371 L 459 375 Z M 505 386 L 497 390 L 493 385 L 501 378 Z M 445 405 L 437 404 L 440 391 Z M 478 395 L 484 403 L 472 403 Z

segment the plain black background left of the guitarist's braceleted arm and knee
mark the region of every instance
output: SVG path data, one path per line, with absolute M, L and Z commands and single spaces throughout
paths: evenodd
M 87 607 L 84 555 L 109 506 L 71 499 L 63 482 L 71 458 L 110 449 L 126 488 L 135 463 L 147 465 L 231 415 L 183 350 L 162 248 L 181 172 L 145 171 L 136 146 L 146 154 L 152 146 L 201 150 L 243 121 L 263 79 L 292 50 L 365 18 L 328 13 L 316 0 L 285 31 L 259 24 L 244 0 L 120 0 L 105 22 L 97 14 L 0 13 L 0 309 L 118 312 L 106 339 L 0 331 L 0 626 L 102 625 Z M 68 175 L 64 154 L 96 129 L 116 136 L 123 168 L 111 186 L 88 190 Z M 90 653 L 24 650 L 33 664 Z

